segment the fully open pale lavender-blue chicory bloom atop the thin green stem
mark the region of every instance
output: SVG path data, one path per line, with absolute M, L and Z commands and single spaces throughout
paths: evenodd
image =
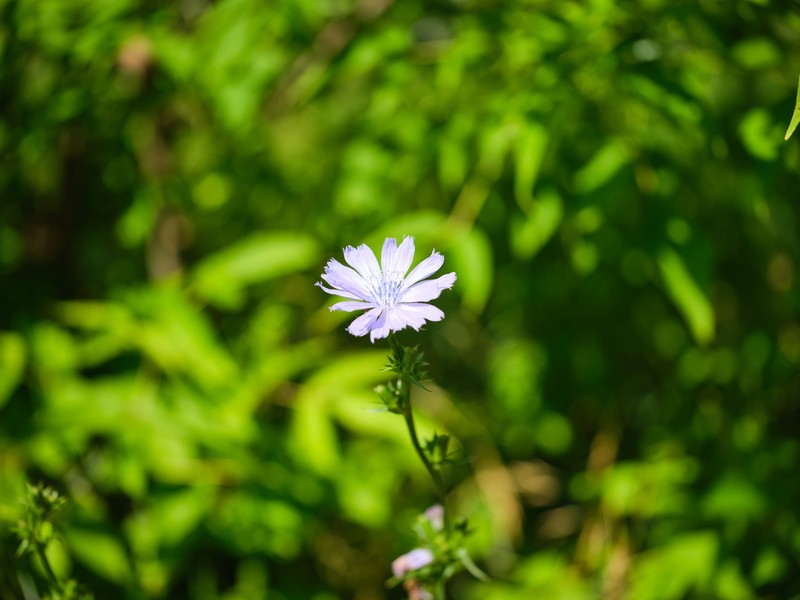
M 414 238 L 403 238 L 398 246 L 394 238 L 386 238 L 381 252 L 381 262 L 365 244 L 344 249 L 347 267 L 332 258 L 325 267 L 317 285 L 329 294 L 348 298 L 331 306 L 331 310 L 365 310 L 353 321 L 347 331 L 355 336 L 369 333 L 370 340 L 385 338 L 392 331 L 412 327 L 419 331 L 426 321 L 441 321 L 444 313 L 428 304 L 450 289 L 456 281 L 455 273 L 437 279 L 426 279 L 444 264 L 444 257 L 434 251 L 408 275 L 414 260 Z

